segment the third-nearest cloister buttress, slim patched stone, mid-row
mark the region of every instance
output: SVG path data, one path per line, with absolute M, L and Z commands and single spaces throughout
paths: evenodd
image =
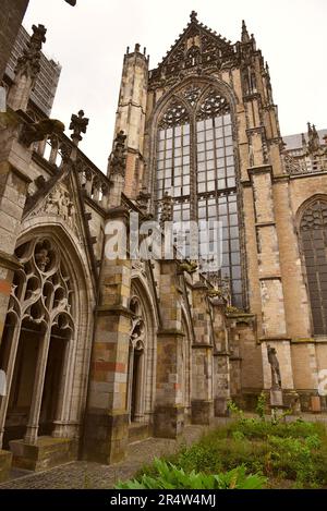
M 192 423 L 209 424 L 214 416 L 213 396 L 213 331 L 206 283 L 193 285 L 193 325 L 195 342 L 192 346 Z

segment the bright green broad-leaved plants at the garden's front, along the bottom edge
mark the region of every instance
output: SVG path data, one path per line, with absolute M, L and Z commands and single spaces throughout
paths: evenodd
M 244 466 L 238 466 L 217 475 L 192 471 L 185 473 L 172 463 L 156 459 L 154 466 L 157 475 L 144 474 L 141 480 L 133 479 L 118 483 L 118 489 L 261 489 L 266 478 L 255 474 L 246 475 Z

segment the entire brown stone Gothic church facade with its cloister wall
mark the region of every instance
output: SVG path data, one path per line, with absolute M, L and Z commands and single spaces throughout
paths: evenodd
M 326 145 L 310 126 L 300 154 L 287 150 L 245 24 L 232 45 L 193 12 L 153 71 L 140 45 L 128 51 L 107 175 L 78 149 L 83 111 L 71 139 L 24 111 L 38 51 L 0 132 L 2 477 L 11 460 L 119 461 L 129 438 L 174 438 L 226 415 L 230 398 L 251 409 L 271 387 L 268 344 L 286 403 L 325 410 Z M 153 217 L 221 218 L 221 271 L 110 258 L 132 214 L 143 233 Z

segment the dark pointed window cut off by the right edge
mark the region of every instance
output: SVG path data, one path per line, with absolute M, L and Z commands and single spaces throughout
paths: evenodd
M 315 334 L 327 334 L 327 202 L 317 199 L 304 211 L 300 235 Z

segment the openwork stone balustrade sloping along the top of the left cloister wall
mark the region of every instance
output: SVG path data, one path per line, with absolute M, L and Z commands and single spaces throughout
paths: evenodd
M 55 170 L 62 167 L 73 148 L 74 144 L 65 135 L 49 136 L 46 141 L 36 143 L 34 147 L 35 153 Z M 77 149 L 75 165 L 85 197 L 102 209 L 108 209 L 109 179 L 80 149 Z

